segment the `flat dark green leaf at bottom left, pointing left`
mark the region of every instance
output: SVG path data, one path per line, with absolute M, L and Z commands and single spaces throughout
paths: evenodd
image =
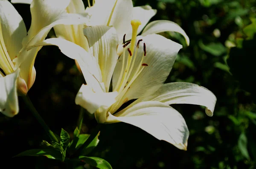
M 61 160 L 62 155 L 60 152 L 54 149 L 31 149 L 21 152 L 14 157 L 22 157 L 22 156 L 45 156 L 51 159 Z

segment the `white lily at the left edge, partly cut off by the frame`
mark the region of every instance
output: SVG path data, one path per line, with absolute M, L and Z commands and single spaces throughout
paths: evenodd
M 64 12 L 69 3 L 70 0 L 34 0 L 27 33 L 12 4 L 0 0 L 0 112 L 3 114 L 13 117 L 18 113 L 17 89 L 26 95 L 35 81 L 34 62 L 41 47 L 31 46 L 43 41 L 53 26 L 87 22 L 86 16 Z

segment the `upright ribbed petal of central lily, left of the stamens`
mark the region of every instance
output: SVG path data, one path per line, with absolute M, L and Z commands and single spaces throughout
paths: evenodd
M 105 92 L 108 92 L 118 60 L 116 30 L 109 26 L 92 26 L 84 29 L 84 35 L 89 42 L 90 52 L 98 60 L 102 72 L 102 82 L 105 84 Z

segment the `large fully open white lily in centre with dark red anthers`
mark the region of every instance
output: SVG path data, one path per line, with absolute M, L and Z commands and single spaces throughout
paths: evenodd
M 98 123 L 129 123 L 186 150 L 189 130 L 182 115 L 169 104 L 206 106 L 207 115 L 212 116 L 216 97 L 208 89 L 192 83 L 163 84 L 182 46 L 158 34 L 136 37 L 140 21 L 131 23 L 133 36 L 123 44 L 119 59 L 118 34 L 108 26 L 84 29 L 89 52 L 59 38 L 37 45 L 56 45 L 62 53 L 78 60 L 87 85 L 81 86 L 76 104 L 94 113 Z M 119 111 L 132 99 L 137 100 Z

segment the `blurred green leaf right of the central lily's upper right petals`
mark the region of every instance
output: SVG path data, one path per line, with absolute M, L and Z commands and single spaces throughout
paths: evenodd
M 202 40 L 199 40 L 198 45 L 205 52 L 208 52 L 214 56 L 221 56 L 222 54 L 227 52 L 227 49 L 221 43 L 209 43 L 208 45 L 204 45 Z

